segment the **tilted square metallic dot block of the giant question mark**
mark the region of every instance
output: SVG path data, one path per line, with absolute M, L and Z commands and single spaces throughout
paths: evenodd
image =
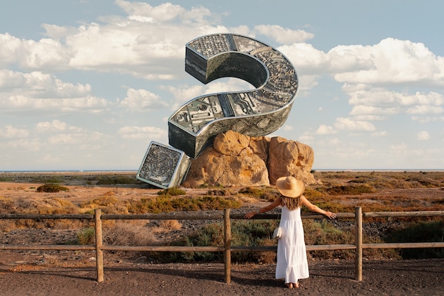
M 190 165 L 191 160 L 182 150 L 151 141 L 135 177 L 163 189 L 177 187 Z

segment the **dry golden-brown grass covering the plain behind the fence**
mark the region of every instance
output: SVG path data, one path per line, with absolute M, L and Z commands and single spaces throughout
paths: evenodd
M 304 193 L 313 204 L 332 212 L 354 212 L 355 207 L 362 207 L 363 212 L 384 211 L 432 211 L 444 210 L 444 172 L 315 172 L 318 184 L 309 185 Z M 67 185 L 68 186 L 68 185 Z M 92 214 L 100 208 L 104 214 L 145 214 L 179 211 L 201 211 L 216 209 L 237 209 L 243 205 L 257 207 L 257 203 L 271 202 L 277 197 L 277 190 L 270 187 L 245 188 L 206 188 L 205 190 L 124 190 L 123 187 L 91 187 L 91 198 L 76 199 L 76 194 L 85 187 L 70 187 L 70 192 L 36 192 L 35 186 L 8 183 L 0 192 L 0 213 L 8 214 Z M 136 193 L 133 193 L 136 192 Z M 306 210 L 304 209 L 304 212 Z M 366 221 L 368 221 L 366 219 Z M 377 219 L 373 219 L 377 221 Z M 245 221 L 242 221 L 245 223 Z M 91 243 L 91 225 L 88 221 L 74 220 L 7 220 L 1 219 L 0 230 L 13 229 L 79 229 L 77 243 Z M 347 229 L 333 229 L 316 221 L 304 221 L 307 244 L 350 243 L 353 234 Z M 105 243 L 113 245 L 146 246 L 160 243 L 159 236 L 182 231 L 182 224 L 177 220 L 164 220 L 158 224 L 150 221 L 104 221 Z M 252 226 L 240 231 L 240 244 L 246 244 L 257 231 L 262 231 L 261 239 L 253 242 L 257 246 L 272 246 L 270 239 L 273 226 Z M 94 229 L 92 229 L 94 234 Z M 199 231 L 201 231 L 199 229 Z M 199 232 L 198 231 L 198 232 Z M 209 228 L 209 234 L 202 234 L 206 246 L 220 243 L 221 236 L 215 227 Z M 245 237 L 242 236 L 245 234 Z M 245 241 L 243 241 L 245 240 Z M 382 242 L 380 237 L 365 237 L 366 242 Z M 366 250 L 365 256 L 374 258 L 396 258 L 395 251 Z M 189 256 L 186 254 L 184 256 Z M 194 254 L 196 255 L 196 254 Z M 194 256 L 193 255 L 193 256 Z M 206 257 L 208 254 L 199 254 Z M 238 254 L 240 261 L 246 260 Z M 247 256 L 247 255 L 245 255 Z M 274 261 L 274 252 L 252 252 L 253 260 L 258 263 Z M 313 257 L 349 258 L 349 251 L 311 252 Z M 250 259 L 248 259 L 250 260 Z

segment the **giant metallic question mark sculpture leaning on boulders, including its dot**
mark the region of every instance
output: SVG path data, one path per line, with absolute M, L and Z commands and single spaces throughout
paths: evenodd
M 196 97 L 168 119 L 170 146 L 151 142 L 136 177 L 157 187 L 180 185 L 219 133 L 265 136 L 287 120 L 298 91 L 296 71 L 278 50 L 242 35 L 213 34 L 186 45 L 185 71 L 204 84 L 237 77 L 256 88 Z M 174 148 L 173 148 L 174 147 Z

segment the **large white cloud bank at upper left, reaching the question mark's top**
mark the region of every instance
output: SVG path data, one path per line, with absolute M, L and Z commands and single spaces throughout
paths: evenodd
M 82 23 L 77 28 L 43 24 L 48 38 L 26 40 L 0 34 L 0 66 L 117 71 L 145 79 L 172 79 L 184 75 L 179 69 L 184 44 L 199 35 L 230 31 L 215 25 L 217 14 L 202 6 L 187 10 L 170 3 L 116 4 L 128 14 L 102 17 L 101 23 Z

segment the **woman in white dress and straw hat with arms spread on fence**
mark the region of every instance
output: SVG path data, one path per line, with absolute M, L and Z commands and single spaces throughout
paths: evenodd
M 329 219 L 335 219 L 336 215 L 311 204 L 302 194 L 305 186 L 301 180 L 296 180 L 292 176 L 280 177 L 276 181 L 276 187 L 281 195 L 274 202 L 255 212 L 245 214 L 244 218 L 251 219 L 256 214 L 265 213 L 279 205 L 282 206 L 279 223 L 282 236 L 277 243 L 276 278 L 284 278 L 285 285 L 292 289 L 293 287 L 299 287 L 299 279 L 309 278 L 301 206 L 304 205 L 311 212 L 323 214 Z

